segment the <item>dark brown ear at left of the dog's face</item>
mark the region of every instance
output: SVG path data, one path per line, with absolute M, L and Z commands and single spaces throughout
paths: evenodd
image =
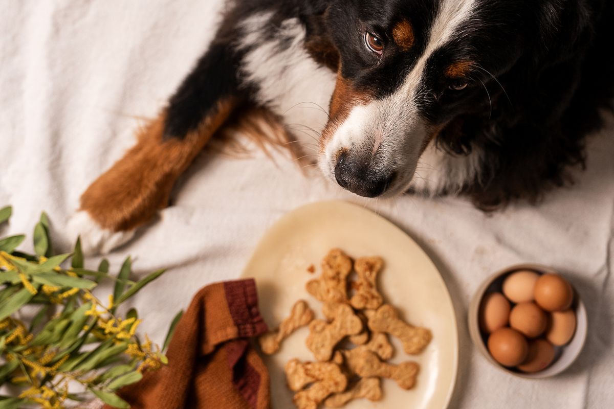
M 303 16 L 306 26 L 305 48 L 318 62 L 337 71 L 339 68 L 339 51 L 333 43 L 326 24 L 328 8 Z

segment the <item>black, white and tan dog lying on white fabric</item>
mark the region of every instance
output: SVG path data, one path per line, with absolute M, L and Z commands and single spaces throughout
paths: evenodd
M 364 197 L 536 202 L 583 166 L 611 102 L 607 0 L 236 0 L 138 142 L 80 199 L 89 253 L 129 240 L 244 107 L 319 134 L 317 163 Z M 610 50 L 608 52 L 607 50 Z M 294 109 L 308 101 L 311 109 Z

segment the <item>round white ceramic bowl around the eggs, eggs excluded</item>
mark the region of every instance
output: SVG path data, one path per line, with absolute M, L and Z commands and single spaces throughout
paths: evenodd
M 480 304 L 486 292 L 491 291 L 499 291 L 501 292 L 501 287 L 503 284 L 503 280 L 505 277 L 510 275 L 511 273 L 518 270 L 532 270 L 537 272 L 538 274 L 544 273 L 557 273 L 556 270 L 551 269 L 550 267 L 541 266 L 540 264 L 516 264 L 515 266 L 507 267 L 506 269 L 500 270 L 499 272 L 494 273 L 489 277 L 478 291 L 475 292 L 471 302 L 469 303 L 469 334 L 473 341 L 473 344 L 478 348 L 480 353 L 486 357 L 488 362 L 495 365 L 495 367 L 515 375 L 517 377 L 529 378 L 529 379 L 538 379 L 538 378 L 548 378 L 557 375 L 558 373 L 563 372 L 567 369 L 573 361 L 580 355 L 582 347 L 584 346 L 586 340 L 586 332 L 587 332 L 587 322 L 586 319 L 586 308 L 584 304 L 582 304 L 582 300 L 578 296 L 578 292 L 573 290 L 573 304 L 572 308 L 575 310 L 576 314 L 576 330 L 573 334 L 571 341 L 564 346 L 557 347 L 555 346 L 555 355 L 554 361 L 544 370 L 535 373 L 524 373 L 520 370 L 507 368 L 503 365 L 499 364 L 499 362 L 495 361 L 494 358 L 488 351 L 486 347 L 486 341 L 488 337 L 483 335 L 480 331 L 480 326 L 478 324 L 478 314 L 480 313 Z M 563 276 L 564 277 L 564 276 Z M 564 277 L 567 281 L 570 281 L 568 277 Z M 573 287 L 573 282 L 570 281 L 570 284 Z

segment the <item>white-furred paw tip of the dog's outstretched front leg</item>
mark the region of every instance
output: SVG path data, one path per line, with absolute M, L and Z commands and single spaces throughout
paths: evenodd
M 134 230 L 113 232 L 104 229 L 87 212 L 80 210 L 68 221 L 71 239 L 81 237 L 81 250 L 85 255 L 106 254 L 132 239 Z

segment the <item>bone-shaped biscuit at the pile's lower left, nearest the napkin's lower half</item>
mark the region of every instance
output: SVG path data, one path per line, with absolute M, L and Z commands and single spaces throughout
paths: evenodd
M 284 366 L 284 372 L 289 388 L 295 392 L 317 381 L 343 383 L 348 380 L 335 362 L 301 362 L 291 359 Z

